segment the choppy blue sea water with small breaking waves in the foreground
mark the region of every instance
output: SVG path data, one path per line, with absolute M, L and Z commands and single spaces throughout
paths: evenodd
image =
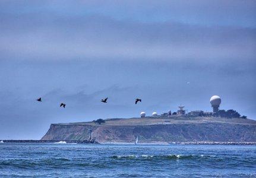
M 0 177 L 256 177 L 256 146 L 4 143 Z

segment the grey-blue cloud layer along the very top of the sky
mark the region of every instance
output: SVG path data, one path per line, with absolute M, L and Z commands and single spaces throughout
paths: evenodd
M 255 1 L 1 1 L 2 14 L 101 15 L 115 20 L 255 27 Z

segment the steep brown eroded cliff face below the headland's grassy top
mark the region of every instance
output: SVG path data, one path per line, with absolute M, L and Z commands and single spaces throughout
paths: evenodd
M 106 122 L 107 123 L 107 122 Z M 91 137 L 99 142 L 178 142 L 235 141 L 256 142 L 256 124 L 223 122 L 184 122 L 152 125 L 52 124 L 42 140 L 83 140 Z

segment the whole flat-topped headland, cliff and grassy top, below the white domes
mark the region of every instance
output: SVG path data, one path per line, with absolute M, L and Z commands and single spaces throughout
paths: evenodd
M 250 144 L 256 142 L 256 120 L 224 117 L 169 116 L 105 119 L 105 123 L 79 122 L 50 125 L 41 139 L 93 138 L 100 143 L 166 142 L 179 144 Z M 91 135 L 90 135 L 91 134 Z

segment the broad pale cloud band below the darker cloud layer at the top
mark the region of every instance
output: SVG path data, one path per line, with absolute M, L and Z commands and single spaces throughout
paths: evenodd
M 256 56 L 255 28 L 138 23 L 105 17 L 46 18 L 48 21 L 36 15 L 5 19 L 8 25 L 2 27 L 0 36 L 2 55 L 30 60 L 173 61 L 251 61 Z

